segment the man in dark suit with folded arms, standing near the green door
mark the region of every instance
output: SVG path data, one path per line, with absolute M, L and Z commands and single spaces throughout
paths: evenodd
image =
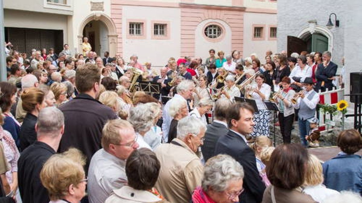
M 327 88 L 329 90 L 332 90 L 332 87 L 334 86 L 332 84 L 332 81 L 336 76 L 338 66 L 337 64 L 331 61 L 331 56 L 332 56 L 331 52 L 329 51 L 323 52 L 322 55 L 323 62 L 318 65 L 316 72 L 316 79 L 317 79 L 317 84 L 315 87 L 316 92 L 318 92 L 318 90 L 325 92 Z

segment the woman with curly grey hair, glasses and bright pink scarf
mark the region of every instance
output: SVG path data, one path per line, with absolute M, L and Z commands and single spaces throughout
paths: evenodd
M 243 167 L 229 155 L 220 154 L 207 160 L 201 187 L 192 195 L 193 203 L 239 202 L 243 189 Z

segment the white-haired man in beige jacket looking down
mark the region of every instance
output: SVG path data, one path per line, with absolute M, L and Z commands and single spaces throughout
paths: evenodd
M 199 147 L 205 131 L 205 124 L 198 118 L 183 118 L 178 121 L 177 138 L 156 148 L 161 169 L 155 187 L 169 202 L 190 202 L 194 189 L 201 185 Z

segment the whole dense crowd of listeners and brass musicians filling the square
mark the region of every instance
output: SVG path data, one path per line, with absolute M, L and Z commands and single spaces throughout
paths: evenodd
M 83 53 L 75 56 L 67 44 L 58 55 L 53 49 L 34 50 L 30 58 L 9 52 L 8 82 L 0 82 L 4 198 L 362 201 L 358 131 L 342 131 L 341 152 L 323 164 L 306 149 L 317 122 L 317 92 L 336 86 L 330 52 L 287 58 L 268 51 L 261 62 L 255 54 L 243 59 L 239 51 L 219 51 L 216 57 L 210 49 L 205 63 L 171 57 L 158 71 L 136 55 L 126 63 L 91 50 L 85 38 Z M 142 84 L 159 91 L 148 94 Z M 277 147 L 269 138 L 269 100 L 279 109 L 284 144 Z M 300 143 L 291 143 L 295 117 Z

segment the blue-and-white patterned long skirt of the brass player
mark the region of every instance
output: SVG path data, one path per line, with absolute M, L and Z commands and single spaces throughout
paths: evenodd
M 254 114 L 254 130 L 250 134 L 252 137 L 265 135 L 269 137 L 269 122 L 270 111 L 267 109 L 259 109 L 258 113 Z

